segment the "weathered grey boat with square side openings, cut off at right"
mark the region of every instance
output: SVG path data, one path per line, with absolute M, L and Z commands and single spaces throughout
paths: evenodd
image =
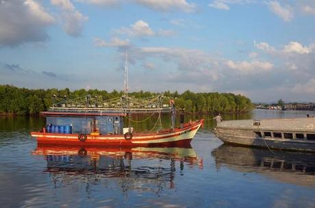
M 227 144 L 315 152 L 315 118 L 227 120 L 214 133 Z

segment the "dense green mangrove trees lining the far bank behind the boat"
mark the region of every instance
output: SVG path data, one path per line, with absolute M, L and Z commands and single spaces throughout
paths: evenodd
M 31 90 L 16 88 L 9 85 L 0 85 L 0 114 L 12 115 L 35 115 L 47 110 L 53 104 L 53 95 L 66 96 L 67 99 L 75 99 L 88 94 L 92 96 L 103 96 L 103 100 L 121 96 L 123 92 L 113 90 L 64 90 L 47 89 Z M 130 96 L 145 98 L 155 96 L 152 92 L 131 92 Z M 194 93 L 189 90 L 183 94 L 176 92 L 164 92 L 165 96 L 175 99 L 175 105 L 185 108 L 191 113 L 231 112 L 244 113 L 252 109 L 251 100 L 242 95 L 231 93 Z M 167 101 L 168 102 L 168 101 Z

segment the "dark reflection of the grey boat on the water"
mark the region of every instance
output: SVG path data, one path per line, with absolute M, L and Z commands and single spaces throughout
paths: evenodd
M 238 172 L 256 172 L 294 185 L 315 187 L 315 154 L 270 151 L 223 144 L 212 151 L 216 168 L 226 166 Z

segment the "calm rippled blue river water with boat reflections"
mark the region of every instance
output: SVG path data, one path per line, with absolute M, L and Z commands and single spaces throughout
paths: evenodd
M 306 114 L 314 116 L 254 110 L 223 119 Z M 201 117 L 212 118 L 186 120 Z M 210 131 L 213 120 L 192 148 L 37 146 L 29 131 L 44 125 L 0 118 L 0 207 L 315 207 L 314 154 L 223 145 Z M 137 125 L 152 129 L 155 119 Z

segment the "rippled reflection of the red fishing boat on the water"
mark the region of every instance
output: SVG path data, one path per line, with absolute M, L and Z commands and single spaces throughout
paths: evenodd
M 33 155 L 43 155 L 54 183 L 84 180 L 116 183 L 123 192 L 143 190 L 158 193 L 175 187 L 176 174 L 185 166 L 202 168 L 202 161 L 191 146 L 172 148 L 92 148 L 38 146 Z M 149 188 L 148 188 L 149 186 Z

